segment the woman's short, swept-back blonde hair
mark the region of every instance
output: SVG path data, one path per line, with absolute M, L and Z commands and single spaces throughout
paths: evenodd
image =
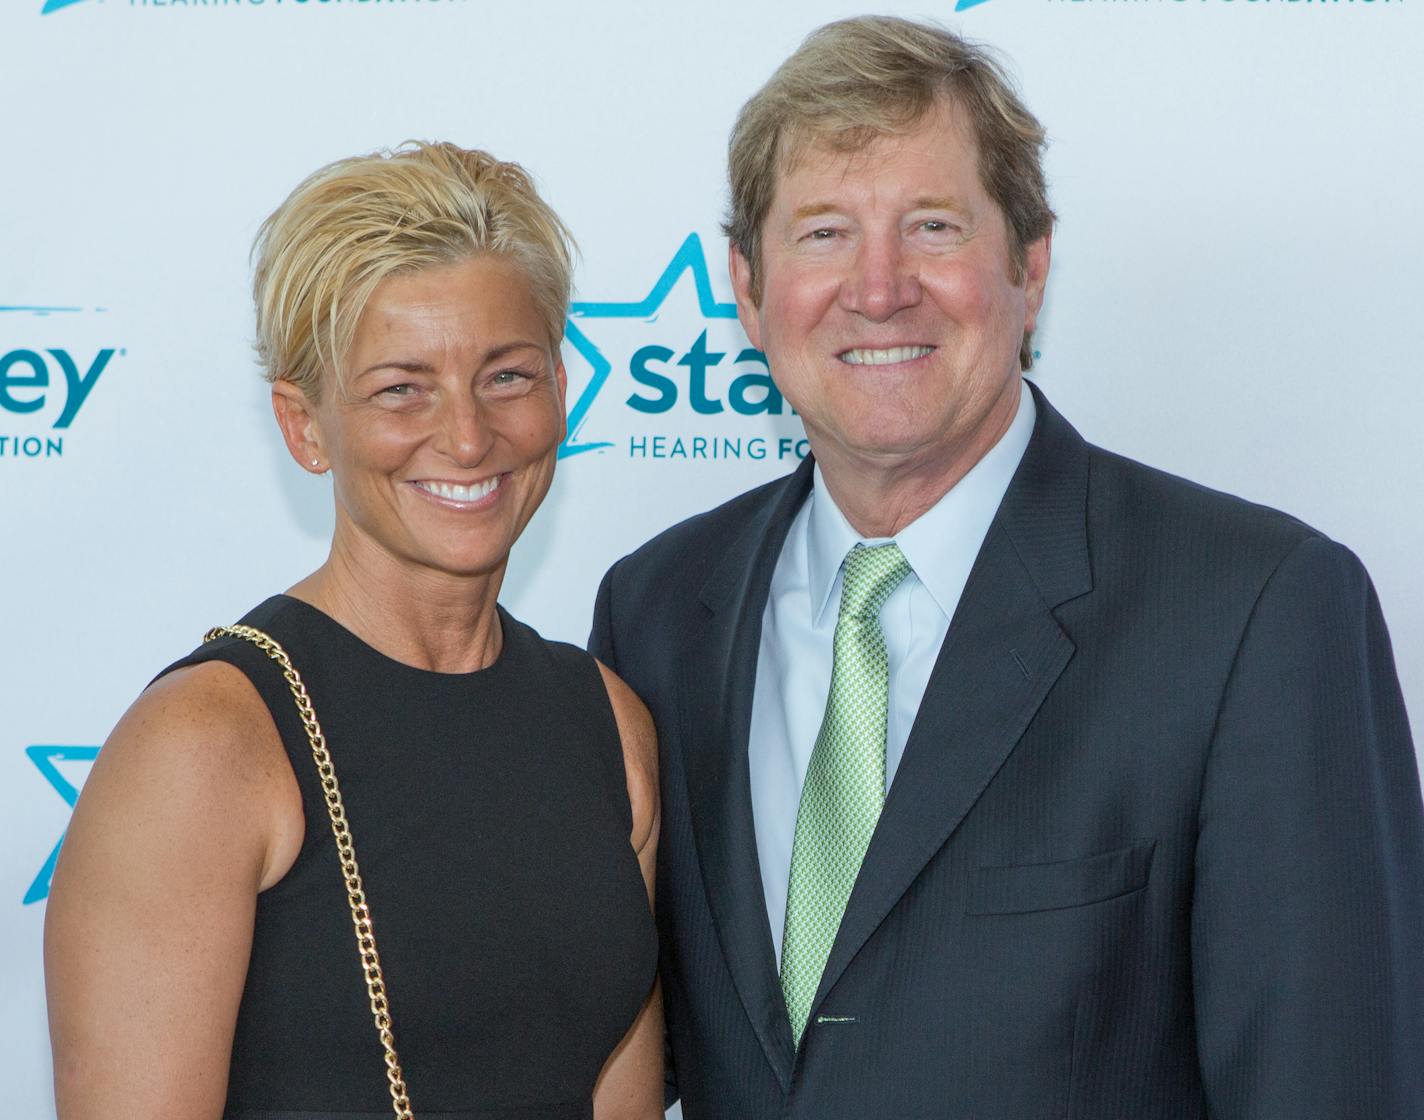
M 320 400 L 382 280 L 477 253 L 515 260 L 557 350 L 572 238 L 518 164 L 454 144 L 407 142 L 308 176 L 252 248 L 256 349 L 269 381 Z M 337 376 L 337 384 L 340 379 Z

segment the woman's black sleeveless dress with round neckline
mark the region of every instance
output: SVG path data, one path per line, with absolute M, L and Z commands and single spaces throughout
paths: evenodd
M 340 781 L 417 1117 L 590 1120 L 594 1080 L 651 986 L 656 935 L 628 842 L 622 749 L 598 666 L 503 609 L 476 673 L 394 662 L 285 595 L 242 619 L 306 680 Z M 272 712 L 306 838 L 258 897 L 228 1120 L 390 1117 L 350 909 L 310 747 L 278 666 L 222 660 Z

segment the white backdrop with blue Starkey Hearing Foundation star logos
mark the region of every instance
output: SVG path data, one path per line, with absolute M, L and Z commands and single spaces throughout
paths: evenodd
M 1001 47 L 1049 130 L 1061 225 L 1035 379 L 1089 440 L 1351 545 L 1418 726 L 1424 4 L 960 6 L 880 7 Z M 288 461 L 251 353 L 261 219 L 318 165 L 412 137 L 535 174 L 582 246 L 575 433 L 504 601 L 581 640 L 609 562 L 795 465 L 793 418 L 731 403 L 763 394 L 732 384 L 762 369 L 728 317 L 723 151 L 800 37 L 856 10 L 6 0 L 6 1114 L 53 1116 L 47 861 L 97 744 L 206 626 L 325 556 L 329 484 Z M 676 359 L 702 332 L 725 357 L 695 397 Z

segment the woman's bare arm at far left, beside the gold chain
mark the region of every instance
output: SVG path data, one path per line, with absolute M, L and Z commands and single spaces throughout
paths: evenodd
M 292 767 L 241 672 L 181 669 L 125 713 L 44 922 L 60 1120 L 222 1114 L 256 897 L 302 831 Z

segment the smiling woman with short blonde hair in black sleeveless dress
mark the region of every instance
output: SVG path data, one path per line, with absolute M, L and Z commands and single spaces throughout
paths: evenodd
M 332 551 L 100 754 L 46 925 L 60 1120 L 658 1117 L 651 720 L 497 605 L 564 433 L 564 226 L 518 167 L 409 145 L 316 172 L 256 253 Z

